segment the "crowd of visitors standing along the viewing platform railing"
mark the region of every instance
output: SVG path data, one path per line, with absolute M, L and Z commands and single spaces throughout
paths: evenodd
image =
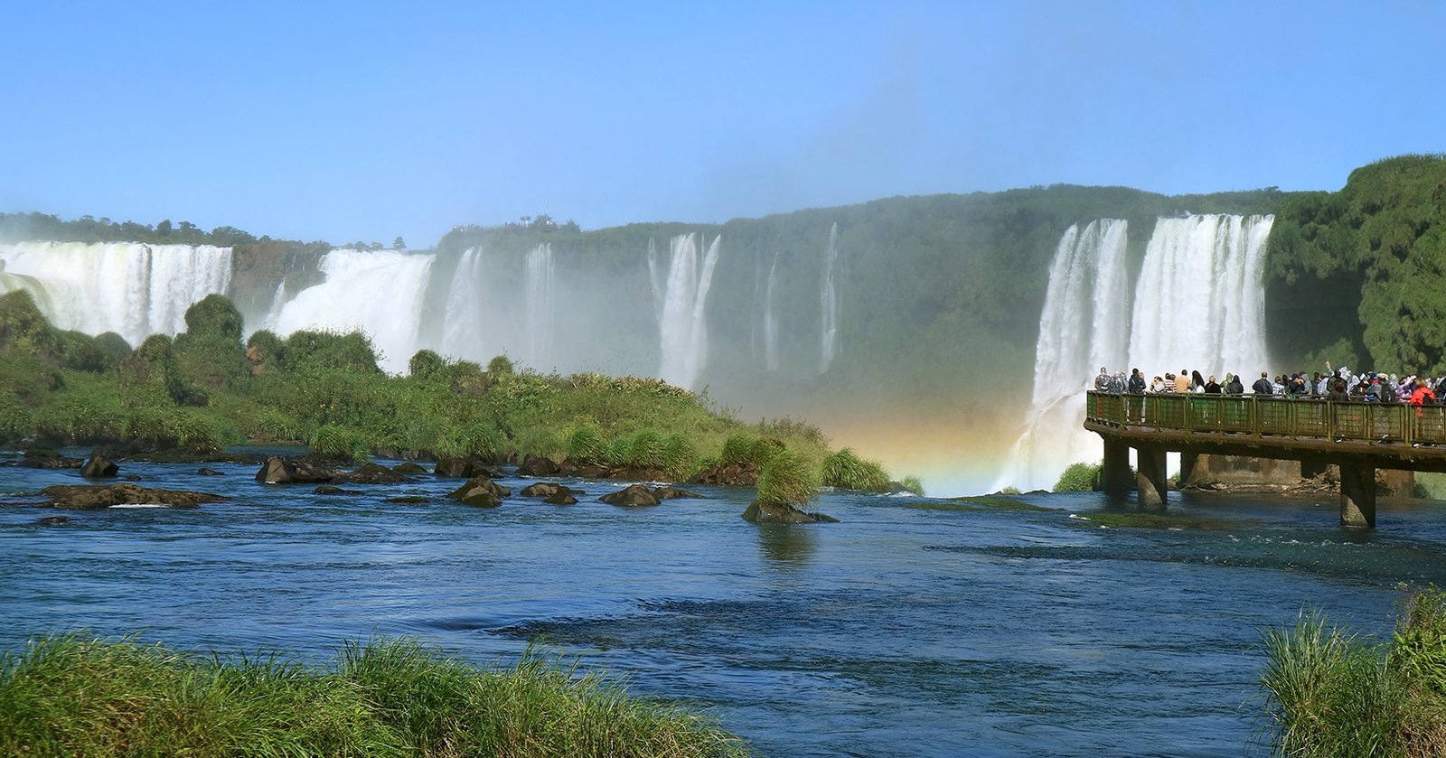
M 1306 372 L 1296 372 L 1290 375 L 1277 375 L 1272 379 L 1270 372 L 1261 372 L 1261 378 L 1252 382 L 1249 391 L 1246 391 L 1241 376 L 1233 373 L 1225 375 L 1225 383 L 1220 383 L 1215 376 L 1206 379 L 1199 370 L 1192 372 L 1189 369 L 1180 369 L 1180 373 L 1167 372 L 1163 376 L 1145 380 L 1145 375 L 1139 373 L 1139 369 L 1134 369 L 1129 376 L 1125 376 L 1125 372 L 1109 373 L 1106 367 L 1100 366 L 1099 376 L 1095 378 L 1095 389 L 1113 395 L 1145 395 L 1160 392 L 1205 395 L 1251 393 L 1267 398 L 1307 398 L 1338 402 L 1407 402 L 1419 406 L 1434 405 L 1437 398 L 1446 395 L 1446 376 L 1397 378 L 1394 373 L 1355 373 L 1345 366 L 1332 369 L 1327 362 L 1325 373 L 1317 372 L 1310 376 L 1307 376 Z

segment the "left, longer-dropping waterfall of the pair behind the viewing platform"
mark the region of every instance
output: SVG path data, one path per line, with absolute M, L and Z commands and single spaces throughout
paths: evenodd
M 1054 485 L 1064 466 L 1099 459 L 1099 438 L 1083 430 L 1084 389 L 1100 366 L 1116 370 L 1129 344 L 1125 269 L 1128 223 L 1090 221 L 1064 230 L 1034 349 L 1034 391 L 1024 433 L 995 489 Z

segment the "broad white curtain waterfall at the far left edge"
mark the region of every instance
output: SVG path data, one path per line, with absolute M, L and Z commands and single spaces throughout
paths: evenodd
M 6 281 L 36 294 L 59 328 L 114 331 L 132 346 L 185 331 L 185 311 L 231 282 L 231 249 L 133 242 L 0 244 Z

